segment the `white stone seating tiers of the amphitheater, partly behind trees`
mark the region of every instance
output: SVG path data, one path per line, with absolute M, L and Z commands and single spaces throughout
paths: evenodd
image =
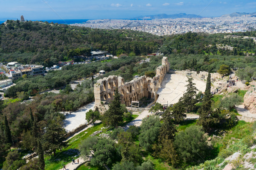
M 205 91 L 206 82 L 201 79 L 193 78 L 195 87 L 198 91 Z M 188 78 L 181 74 L 166 74 L 163 78 L 160 88 L 157 91 L 157 102 L 162 105 L 171 105 L 179 101 L 180 97 L 186 92 L 186 82 Z

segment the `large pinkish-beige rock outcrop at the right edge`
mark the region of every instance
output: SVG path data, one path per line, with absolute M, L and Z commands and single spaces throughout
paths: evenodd
M 256 114 L 256 91 L 247 91 L 244 95 L 244 106 L 250 113 Z

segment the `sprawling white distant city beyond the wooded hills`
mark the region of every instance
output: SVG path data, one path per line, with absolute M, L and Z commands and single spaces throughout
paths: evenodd
M 256 28 L 256 17 L 177 18 L 153 20 L 88 20 L 70 24 L 101 29 L 131 29 L 155 35 L 183 34 L 191 32 L 233 33 Z

